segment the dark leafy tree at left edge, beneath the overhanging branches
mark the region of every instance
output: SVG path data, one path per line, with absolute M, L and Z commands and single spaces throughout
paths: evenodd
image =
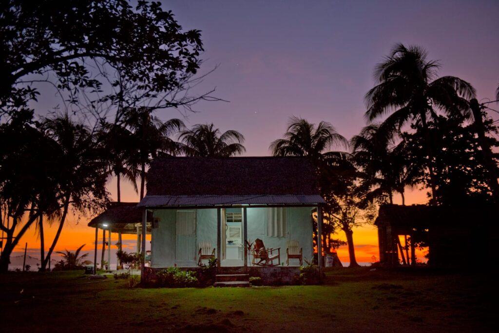
M 57 208 L 57 150 L 32 117 L 24 109 L 0 124 L 0 229 L 5 233 L 0 272 L 7 271 L 10 254 L 31 224 Z

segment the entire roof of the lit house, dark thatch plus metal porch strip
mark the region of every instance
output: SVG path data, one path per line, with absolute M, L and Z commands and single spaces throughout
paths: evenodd
M 322 204 L 304 157 L 161 157 L 139 206 Z

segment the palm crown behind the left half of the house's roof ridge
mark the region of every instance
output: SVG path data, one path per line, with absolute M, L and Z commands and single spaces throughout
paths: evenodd
M 243 134 L 235 130 L 224 133 L 213 124 L 196 124 L 179 135 L 186 156 L 230 157 L 246 151 Z

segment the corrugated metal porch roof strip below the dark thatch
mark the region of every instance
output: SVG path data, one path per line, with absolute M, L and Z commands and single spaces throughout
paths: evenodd
M 220 205 L 317 205 L 320 195 L 150 195 L 138 207 L 220 206 Z

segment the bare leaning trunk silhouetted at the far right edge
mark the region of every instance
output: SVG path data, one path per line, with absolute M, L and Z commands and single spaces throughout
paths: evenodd
M 494 201 L 496 202 L 496 207 L 499 207 L 499 184 L 498 184 L 498 174 L 497 174 L 497 165 L 492 158 L 492 151 L 487 142 L 487 137 L 485 136 L 485 127 L 484 122 L 482 120 L 482 110 L 480 109 L 480 104 L 478 100 L 473 98 L 470 100 L 470 107 L 473 111 L 473 117 L 475 118 L 475 129 L 478 134 L 478 140 L 480 143 L 480 147 L 482 148 L 482 154 L 484 156 L 484 164 L 487 168 L 487 174 L 489 177 L 488 185 L 492 191 L 492 195 L 494 197 Z

